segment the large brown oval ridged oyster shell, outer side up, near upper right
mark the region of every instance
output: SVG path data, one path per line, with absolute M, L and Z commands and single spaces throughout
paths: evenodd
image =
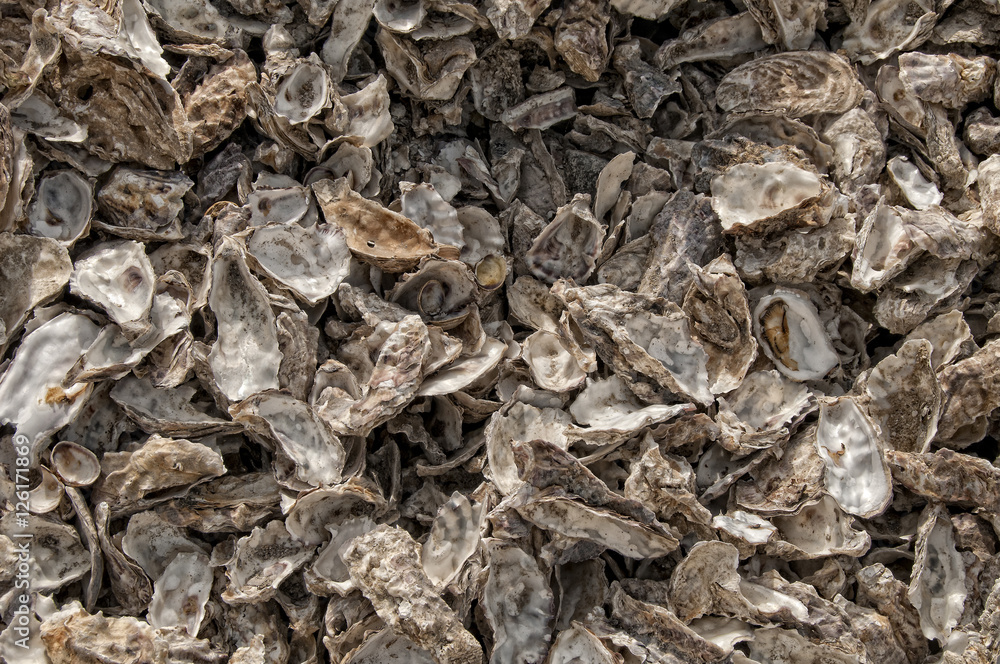
M 843 113 L 864 87 L 847 61 L 823 51 L 795 51 L 753 60 L 726 74 L 715 92 L 725 111 L 777 111 L 793 118 Z

